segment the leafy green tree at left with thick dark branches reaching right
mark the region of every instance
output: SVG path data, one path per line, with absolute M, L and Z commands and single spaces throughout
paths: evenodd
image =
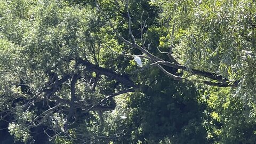
M 65 1 L 1 1 L 1 115 L 17 140 L 33 142 L 30 131 L 46 126 L 61 141 L 89 111 L 114 109 L 111 97 L 137 87 L 100 67 L 103 22 L 94 12 Z

